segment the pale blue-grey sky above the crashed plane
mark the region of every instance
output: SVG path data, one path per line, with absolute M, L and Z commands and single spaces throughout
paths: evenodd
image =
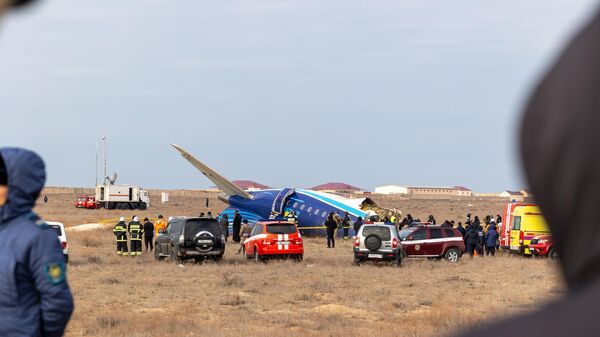
M 591 0 L 45 0 L 4 20 L 0 146 L 48 185 L 523 185 L 521 107 Z M 102 151 L 102 146 L 100 146 Z M 102 171 L 102 169 L 100 170 Z

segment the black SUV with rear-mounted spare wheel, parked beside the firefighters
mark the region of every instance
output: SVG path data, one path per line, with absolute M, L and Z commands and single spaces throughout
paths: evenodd
M 156 238 L 154 257 L 166 257 L 173 261 L 212 259 L 220 261 L 225 254 L 225 236 L 216 219 L 186 218 L 171 219 L 167 228 Z

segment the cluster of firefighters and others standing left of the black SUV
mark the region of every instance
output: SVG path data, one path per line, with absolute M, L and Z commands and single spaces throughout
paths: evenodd
M 131 217 L 129 224 L 125 223 L 125 218 L 121 217 L 119 222 L 113 228 L 115 240 L 117 242 L 117 254 L 121 256 L 139 256 L 142 255 L 142 240 L 145 249 L 150 252 L 154 249 L 154 237 L 158 236 L 161 230 L 165 230 L 167 222 L 162 215 L 158 216 L 155 223 L 144 218 L 144 223 L 140 223 L 139 217 Z M 129 239 L 129 240 L 128 240 Z M 129 248 L 128 243 L 129 241 Z

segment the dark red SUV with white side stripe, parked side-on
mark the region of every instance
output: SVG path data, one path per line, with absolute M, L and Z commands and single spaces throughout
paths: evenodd
M 460 232 L 452 227 L 418 226 L 400 231 L 406 257 L 445 258 L 456 262 L 465 252 Z

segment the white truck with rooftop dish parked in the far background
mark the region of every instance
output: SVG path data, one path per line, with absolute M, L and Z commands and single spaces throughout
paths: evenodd
M 99 208 L 145 210 L 150 206 L 150 195 L 139 186 L 98 185 L 96 202 Z

